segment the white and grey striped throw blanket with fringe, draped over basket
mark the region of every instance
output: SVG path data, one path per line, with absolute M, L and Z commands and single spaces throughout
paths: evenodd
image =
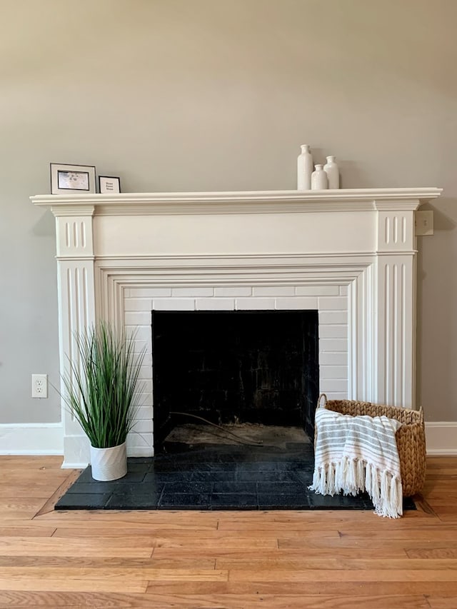
M 310 490 L 356 495 L 366 490 L 375 513 L 403 514 L 400 460 L 395 433 L 400 421 L 386 416 L 350 416 L 316 410 L 316 453 Z

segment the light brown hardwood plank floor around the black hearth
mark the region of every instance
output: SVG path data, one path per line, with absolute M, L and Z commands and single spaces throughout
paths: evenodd
M 0 608 L 455 609 L 457 457 L 418 510 L 69 511 L 59 457 L 0 457 Z

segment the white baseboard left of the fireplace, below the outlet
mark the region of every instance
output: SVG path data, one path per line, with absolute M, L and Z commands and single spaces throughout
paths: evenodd
M 0 455 L 63 455 L 62 423 L 1 423 Z

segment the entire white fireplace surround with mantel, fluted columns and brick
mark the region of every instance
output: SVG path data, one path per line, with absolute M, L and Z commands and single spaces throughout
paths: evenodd
M 96 319 L 137 328 L 146 390 L 128 450 L 151 456 L 152 310 L 313 309 L 321 391 L 414 407 L 414 211 L 440 192 L 34 196 L 56 217 L 61 369 Z M 84 465 L 86 437 L 62 418 L 64 466 Z

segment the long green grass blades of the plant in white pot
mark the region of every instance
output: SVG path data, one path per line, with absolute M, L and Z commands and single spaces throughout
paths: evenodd
M 64 400 L 94 448 L 126 441 L 139 406 L 137 384 L 144 351 L 134 353 L 134 337 L 106 322 L 75 335 L 79 362 L 69 361 Z

